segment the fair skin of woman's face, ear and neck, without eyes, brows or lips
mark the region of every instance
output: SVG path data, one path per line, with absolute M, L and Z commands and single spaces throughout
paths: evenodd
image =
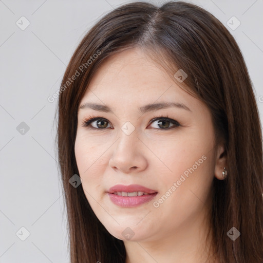
M 78 111 L 75 154 L 82 187 L 108 232 L 124 241 L 126 263 L 210 262 L 205 237 L 212 181 L 214 177 L 222 180 L 223 167 L 227 167 L 226 157 L 221 157 L 223 145 L 215 145 L 210 110 L 139 48 L 114 55 L 100 67 L 80 106 L 87 102 L 108 105 L 113 114 L 91 108 Z M 183 103 L 191 111 L 174 107 L 139 113 L 139 107 L 157 102 Z M 82 126 L 90 115 L 108 123 L 94 121 L 97 129 Z M 164 127 L 174 127 L 165 129 L 158 121 L 151 123 L 161 116 L 181 126 L 164 122 Z M 130 135 L 121 129 L 127 121 L 135 128 Z M 171 191 L 174 182 L 202 156 L 206 157 L 202 164 Z M 107 195 L 116 184 L 140 184 L 158 194 L 135 208 L 120 208 Z M 156 208 L 153 203 L 169 189 L 172 194 Z M 126 228 L 132 230 L 130 239 L 122 235 Z

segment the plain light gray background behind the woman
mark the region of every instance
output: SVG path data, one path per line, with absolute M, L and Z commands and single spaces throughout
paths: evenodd
M 69 262 L 55 161 L 57 99 L 50 103 L 47 98 L 60 88 L 66 65 L 87 30 L 103 14 L 129 2 L 135 1 L 0 1 L 1 263 Z M 210 11 L 234 35 L 249 69 L 262 122 L 263 1 L 191 3 Z M 24 30 L 27 21 L 22 16 L 30 22 Z M 232 16 L 241 22 L 235 30 L 227 25 Z M 28 237 L 22 227 L 29 231 Z

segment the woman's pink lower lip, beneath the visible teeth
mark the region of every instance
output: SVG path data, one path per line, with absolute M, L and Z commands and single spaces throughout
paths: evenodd
M 142 203 L 149 202 L 157 195 L 157 193 L 141 196 L 119 196 L 110 193 L 108 193 L 108 195 L 112 203 L 115 203 L 121 206 L 122 208 L 132 208 Z

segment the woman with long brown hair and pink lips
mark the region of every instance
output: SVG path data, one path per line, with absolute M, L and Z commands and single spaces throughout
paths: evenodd
M 58 115 L 71 262 L 263 262 L 259 114 L 212 14 L 106 14 L 69 62 Z

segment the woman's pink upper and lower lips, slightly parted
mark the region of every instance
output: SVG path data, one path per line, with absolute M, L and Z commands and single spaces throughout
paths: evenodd
M 148 195 L 142 196 L 119 196 L 115 195 L 114 192 L 144 192 Z M 152 200 L 158 193 L 155 190 L 148 189 L 139 184 L 130 184 L 130 185 L 122 185 L 117 184 L 115 186 L 110 187 L 108 190 L 108 196 L 112 203 L 121 206 L 122 208 L 133 208 L 135 206 L 139 206 L 143 203 L 149 202 Z

